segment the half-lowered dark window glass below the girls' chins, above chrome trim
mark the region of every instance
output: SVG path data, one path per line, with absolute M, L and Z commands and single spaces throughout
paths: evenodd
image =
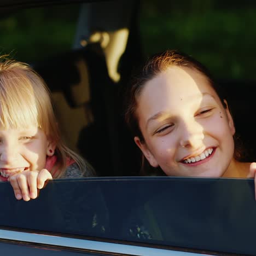
M 8 230 L 255 254 L 256 204 L 250 179 L 55 180 L 30 202 L 14 200 L 8 183 L 0 184 L 0 193 L 5 206 L 0 225 Z

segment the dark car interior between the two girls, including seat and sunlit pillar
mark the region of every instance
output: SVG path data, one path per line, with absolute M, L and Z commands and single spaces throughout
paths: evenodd
M 106 11 L 113 7 L 114 14 Z M 137 12 L 136 1 L 84 4 L 74 49 L 32 63 L 52 92 L 67 145 L 82 154 L 100 176 L 136 176 L 139 170 L 121 102 L 131 69 L 142 60 L 139 47 L 134 47 L 139 42 Z

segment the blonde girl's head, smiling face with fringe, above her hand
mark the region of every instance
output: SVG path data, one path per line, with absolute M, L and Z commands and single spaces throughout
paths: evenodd
M 47 86 L 25 63 L 3 60 L 0 98 L 0 181 L 24 170 L 41 171 L 46 156 L 62 147 Z M 61 149 L 59 155 L 65 155 Z M 57 161 L 65 166 L 65 158 Z

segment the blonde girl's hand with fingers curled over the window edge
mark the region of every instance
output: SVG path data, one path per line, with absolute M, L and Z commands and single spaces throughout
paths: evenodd
M 20 200 L 23 198 L 24 201 L 37 198 L 37 189 L 42 189 L 48 179 L 53 179 L 53 177 L 51 177 L 51 173 L 46 169 L 41 171 L 23 171 L 9 177 L 16 199 Z

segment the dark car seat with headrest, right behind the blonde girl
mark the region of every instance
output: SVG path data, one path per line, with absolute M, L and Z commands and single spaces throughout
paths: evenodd
M 118 158 L 116 89 L 97 44 L 34 63 L 49 86 L 67 145 L 101 176 L 112 176 Z

